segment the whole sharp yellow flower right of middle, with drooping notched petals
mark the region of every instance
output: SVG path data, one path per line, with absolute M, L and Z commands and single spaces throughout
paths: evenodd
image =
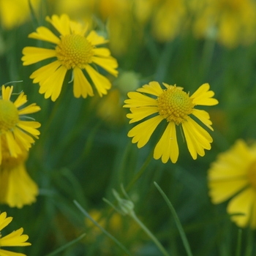
M 126 103 L 124 108 L 130 108 L 132 112 L 127 114 L 127 117 L 131 119 L 129 123 L 150 117 L 133 127 L 128 136 L 132 137 L 132 143 L 138 143 L 138 148 L 141 148 L 148 143 L 159 123 L 165 120 L 167 127 L 154 148 L 154 159 L 162 157 L 162 162 L 166 163 L 170 158 L 175 163 L 178 159 L 176 126 L 181 124 L 192 158 L 197 159 L 197 154 L 203 157 L 204 149 L 211 149 L 210 143 L 213 140 L 211 135 L 191 118 L 191 115 L 213 130 L 209 114 L 194 107 L 196 105 L 217 105 L 217 99 L 212 98 L 214 91 L 209 91 L 210 86 L 208 83 L 204 83 L 189 97 L 189 94 L 184 92 L 181 87 L 170 86 L 167 83 L 163 83 L 163 85 L 166 88 L 164 90 L 159 83 L 153 81 L 137 89 L 136 92 L 128 93 L 129 99 L 124 101 Z M 145 94 L 157 98 L 148 97 Z

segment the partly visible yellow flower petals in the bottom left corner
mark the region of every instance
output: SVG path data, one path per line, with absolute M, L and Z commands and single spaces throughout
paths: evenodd
M 23 227 L 13 231 L 7 236 L 1 236 L 1 230 L 12 222 L 12 217 L 7 217 L 6 212 L 0 214 L 0 255 L 1 256 L 26 256 L 23 253 L 10 252 L 5 249 L 1 249 L 4 246 L 29 246 L 29 236 L 23 234 Z

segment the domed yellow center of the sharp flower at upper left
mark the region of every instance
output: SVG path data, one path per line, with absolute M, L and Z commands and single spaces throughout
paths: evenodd
M 94 55 L 91 43 L 80 34 L 69 34 L 61 37 L 61 42 L 56 46 L 57 58 L 67 69 L 82 68 L 84 64 L 91 63 Z

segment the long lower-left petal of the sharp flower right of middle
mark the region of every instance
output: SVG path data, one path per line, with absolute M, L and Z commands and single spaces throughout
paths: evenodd
M 143 121 L 128 132 L 128 137 L 133 137 L 132 143 L 138 143 L 138 148 L 142 148 L 148 143 L 152 133 L 163 119 L 162 116 L 154 116 L 153 118 Z

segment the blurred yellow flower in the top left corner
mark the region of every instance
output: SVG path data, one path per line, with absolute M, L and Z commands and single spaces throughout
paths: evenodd
M 37 9 L 39 0 L 30 0 Z M 27 0 L 0 0 L 0 23 L 4 29 L 12 29 L 29 20 L 30 10 Z

